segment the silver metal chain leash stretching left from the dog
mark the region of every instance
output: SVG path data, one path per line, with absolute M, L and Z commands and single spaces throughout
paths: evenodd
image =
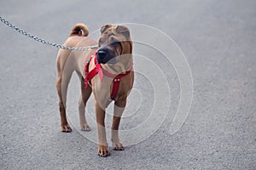
M 11 24 L 8 20 L 5 20 L 3 19 L 2 16 L 0 16 L 0 20 L 3 22 L 3 24 L 5 24 L 6 26 L 9 26 L 10 28 L 14 29 L 15 31 L 18 31 L 20 34 L 26 36 L 26 37 L 30 37 L 32 38 L 33 40 L 37 41 L 37 42 L 41 42 L 41 43 L 44 43 L 44 44 L 47 44 L 47 45 L 50 45 L 50 46 L 54 46 L 55 48 L 62 48 L 62 49 L 68 49 L 68 50 L 89 50 L 91 48 L 97 48 L 97 45 L 95 46 L 88 46 L 88 47 L 78 47 L 78 48 L 72 48 L 72 47 L 68 47 L 68 46 L 63 46 L 61 44 L 58 44 L 58 43 L 53 43 L 53 42 L 48 42 L 40 37 L 36 37 L 36 36 L 33 36 L 32 34 L 30 33 L 27 33 L 26 31 L 24 30 L 21 30 L 20 28 L 14 26 L 13 24 Z

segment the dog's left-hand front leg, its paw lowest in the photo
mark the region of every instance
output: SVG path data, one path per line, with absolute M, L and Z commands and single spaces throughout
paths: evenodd
M 105 111 L 102 110 L 102 107 L 98 104 L 95 99 L 95 108 L 96 108 L 96 122 L 98 129 L 98 155 L 102 157 L 109 156 L 108 143 L 106 138 L 106 129 L 105 129 Z

